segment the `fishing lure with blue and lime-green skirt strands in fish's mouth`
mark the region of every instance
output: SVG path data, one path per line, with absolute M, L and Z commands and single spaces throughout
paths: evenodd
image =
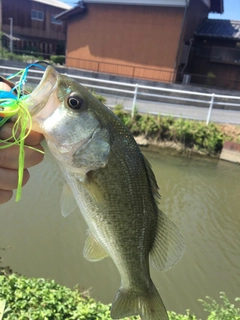
M 0 127 L 14 117 L 14 125 L 12 129 L 12 135 L 8 139 L 0 140 L 0 150 L 4 148 L 9 148 L 13 145 L 19 146 L 19 157 L 18 157 L 18 185 L 16 191 L 16 202 L 21 199 L 22 194 L 22 181 L 23 181 L 23 170 L 24 170 L 24 140 L 30 134 L 32 128 L 32 118 L 27 109 L 24 100 L 28 96 L 28 92 L 24 90 L 25 83 L 27 81 L 27 74 L 31 67 L 38 67 L 41 69 L 46 69 L 38 61 L 34 64 L 28 65 L 25 69 L 7 77 L 7 80 L 2 78 L 4 82 L 11 86 L 11 91 L 1 91 L 0 90 Z M 44 61 L 44 63 L 46 63 Z M 48 64 L 48 63 L 46 63 Z M 20 77 L 19 81 L 14 85 L 9 79 Z M 34 149 L 38 152 L 43 153 L 42 150 L 38 150 L 31 146 L 28 148 Z

